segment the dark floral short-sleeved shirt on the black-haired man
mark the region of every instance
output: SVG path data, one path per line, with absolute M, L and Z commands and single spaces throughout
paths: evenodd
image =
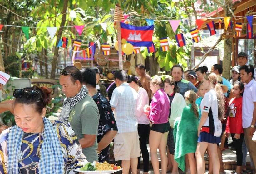
M 97 142 L 99 143 L 108 131 L 117 131 L 117 126 L 113 111 L 106 97 L 104 97 L 101 93 L 98 92 L 94 94 L 92 98 L 97 104 L 100 113 L 100 121 L 97 136 Z M 109 162 L 109 148 L 110 145 L 103 149 L 101 153 L 98 155 L 99 162 Z

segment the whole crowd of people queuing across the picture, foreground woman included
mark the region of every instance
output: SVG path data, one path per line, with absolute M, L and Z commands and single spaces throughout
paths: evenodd
M 160 174 L 158 151 L 162 174 L 178 174 L 178 169 L 203 174 L 205 153 L 209 173 L 219 174 L 229 136 L 237 157 L 234 173 L 246 170 L 247 150 L 253 169 L 256 81 L 254 67 L 244 59 L 246 54 L 239 53 L 229 80 L 221 76 L 220 64 L 211 72 L 206 66 L 184 72 L 177 64 L 170 76 L 153 77 L 138 64 L 140 77 L 116 71 L 108 89 L 98 84 L 97 67 L 67 66 L 59 80 L 66 98 L 54 121 L 45 117 L 50 89 L 15 89 L 15 100 L 0 103 L 0 112 L 11 111 L 16 122 L 0 135 L 0 173 L 75 173 L 79 162 L 109 162 L 113 141 L 122 173 L 140 173 L 142 155 L 147 174 L 149 141 L 155 174 Z

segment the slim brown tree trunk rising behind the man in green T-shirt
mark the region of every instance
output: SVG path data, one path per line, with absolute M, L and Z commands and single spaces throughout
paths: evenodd
M 52 71 L 51 71 L 51 79 L 55 78 L 55 72 L 56 72 L 56 64 L 58 61 L 58 57 L 59 57 L 59 47 L 57 47 L 57 44 L 59 43 L 59 40 L 61 39 L 61 35 L 62 35 L 62 31 L 64 30 L 63 26 L 65 25 L 66 22 L 66 11 L 67 11 L 67 5 L 68 5 L 68 0 L 64 0 L 63 1 L 63 9 L 62 9 L 62 21 L 61 21 L 61 28 L 58 31 L 57 34 L 57 42 L 54 48 L 54 56 L 53 56 L 53 60 L 52 60 Z

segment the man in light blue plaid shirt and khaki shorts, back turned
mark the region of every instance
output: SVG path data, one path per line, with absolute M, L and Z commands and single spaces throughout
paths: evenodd
M 128 75 L 124 70 L 114 74 L 116 88 L 113 91 L 110 105 L 114 111 L 118 134 L 114 139 L 115 160 L 122 160 L 123 174 L 137 173 L 138 157 L 140 156 L 140 141 L 137 131 L 135 108 L 137 92 L 127 83 Z

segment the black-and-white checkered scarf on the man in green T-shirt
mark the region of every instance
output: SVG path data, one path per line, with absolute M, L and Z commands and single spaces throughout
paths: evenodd
M 67 122 L 69 112 L 73 109 L 76 104 L 88 95 L 88 89 L 85 85 L 80 89 L 80 92 L 74 97 L 66 98 L 63 102 L 62 110 L 58 118 L 59 121 Z

